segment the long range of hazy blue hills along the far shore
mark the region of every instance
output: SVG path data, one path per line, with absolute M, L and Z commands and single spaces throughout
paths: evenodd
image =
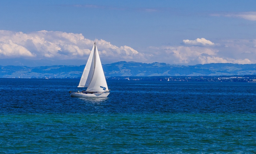
M 84 66 L 0 66 L 0 78 L 80 78 Z M 120 61 L 102 66 L 106 77 L 256 75 L 256 64 L 210 63 L 181 66 L 157 62 L 137 63 Z

